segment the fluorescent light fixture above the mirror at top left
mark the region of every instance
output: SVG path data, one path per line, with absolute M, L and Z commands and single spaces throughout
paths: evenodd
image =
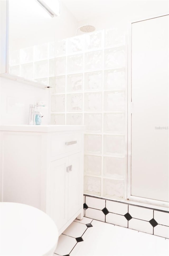
M 57 0 L 37 0 L 51 17 L 60 15 L 60 3 Z

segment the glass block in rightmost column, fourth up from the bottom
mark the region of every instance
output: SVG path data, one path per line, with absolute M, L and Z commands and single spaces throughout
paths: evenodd
M 125 132 L 125 114 L 124 113 L 104 113 L 104 132 Z

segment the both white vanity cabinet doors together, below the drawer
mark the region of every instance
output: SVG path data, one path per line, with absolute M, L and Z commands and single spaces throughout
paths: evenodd
M 62 228 L 82 207 L 79 169 L 82 169 L 82 153 L 51 162 L 50 216 L 57 223 L 58 229 Z

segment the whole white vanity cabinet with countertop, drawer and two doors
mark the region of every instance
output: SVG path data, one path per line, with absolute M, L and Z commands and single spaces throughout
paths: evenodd
M 61 234 L 83 217 L 84 126 L 1 126 L 1 201 L 45 211 Z

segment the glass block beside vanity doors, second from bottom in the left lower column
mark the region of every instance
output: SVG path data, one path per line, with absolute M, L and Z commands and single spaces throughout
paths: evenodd
M 84 156 L 84 172 L 88 175 L 101 175 L 101 156 Z

